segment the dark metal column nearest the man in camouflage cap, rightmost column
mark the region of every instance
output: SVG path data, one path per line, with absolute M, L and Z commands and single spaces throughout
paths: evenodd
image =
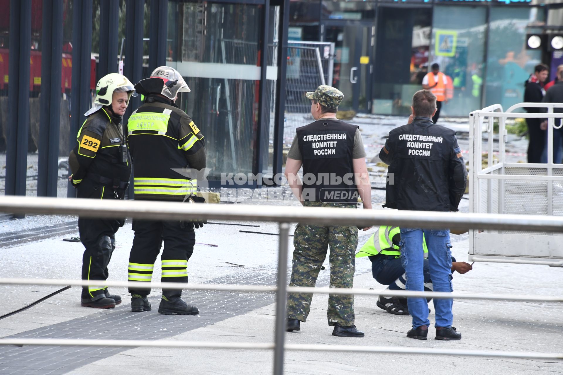
M 283 128 L 285 118 L 285 72 L 287 70 L 287 33 L 289 24 L 289 0 L 280 6 L 280 32 L 278 42 L 278 80 L 276 81 L 276 105 L 274 115 L 274 175 L 282 173 Z

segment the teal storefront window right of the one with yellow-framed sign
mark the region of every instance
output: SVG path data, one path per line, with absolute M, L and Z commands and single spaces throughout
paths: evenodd
M 526 49 L 527 26 L 543 14 L 537 8 L 491 8 L 486 106 L 500 103 L 507 109 L 524 100 L 524 82 L 542 58 L 541 51 Z

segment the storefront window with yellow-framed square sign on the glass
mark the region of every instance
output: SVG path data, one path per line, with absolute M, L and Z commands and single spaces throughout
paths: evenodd
M 485 7 L 434 7 L 430 64 L 437 62 L 452 82 L 441 116 L 481 109 L 485 29 Z

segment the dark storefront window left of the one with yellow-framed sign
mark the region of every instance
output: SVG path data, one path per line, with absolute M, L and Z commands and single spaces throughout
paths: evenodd
M 432 10 L 382 7 L 380 12 L 372 112 L 408 115 L 428 71 Z

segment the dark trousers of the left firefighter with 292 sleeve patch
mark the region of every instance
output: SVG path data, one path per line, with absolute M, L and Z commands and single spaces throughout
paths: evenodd
M 80 241 L 84 245 L 82 255 L 82 279 L 108 279 L 108 264 L 115 250 L 115 232 L 125 220 L 78 218 Z M 105 296 L 103 283 L 82 288 L 83 299 L 100 299 Z

